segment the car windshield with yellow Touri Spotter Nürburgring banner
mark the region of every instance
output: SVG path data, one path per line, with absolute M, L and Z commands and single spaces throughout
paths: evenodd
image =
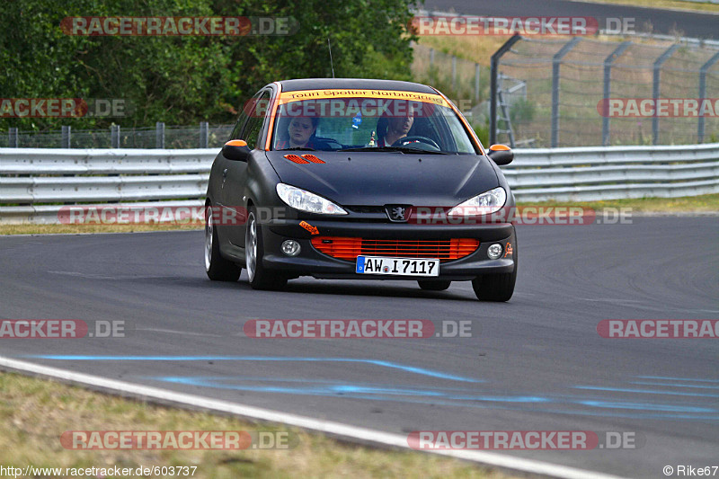
M 476 154 L 440 95 L 377 90 L 280 94 L 272 149 Z

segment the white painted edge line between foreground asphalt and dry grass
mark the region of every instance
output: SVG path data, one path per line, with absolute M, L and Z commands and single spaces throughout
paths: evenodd
M 341 422 L 322 421 L 288 412 L 271 411 L 269 409 L 235 404 L 218 399 L 209 399 L 199 395 L 177 393 L 174 391 L 160 389 L 158 387 L 143 386 L 127 383 L 125 381 L 118 381 L 116 379 L 107 379 L 84 373 L 76 373 L 65 369 L 33 364 L 27 361 L 4 358 L 3 356 L 0 356 L 0 368 L 14 369 L 46 377 L 55 377 L 76 384 L 120 392 L 124 396 L 129 395 L 138 397 L 142 400 L 155 399 L 163 402 L 164 404 L 185 404 L 210 411 L 235 414 L 254 420 L 288 424 L 297 428 L 314 430 L 333 436 L 341 436 L 345 439 L 359 439 L 359 441 L 369 442 L 378 446 L 390 446 L 393 448 L 414 450 L 407 444 L 407 436 L 391 432 L 383 432 L 381 430 L 360 428 L 358 426 L 342 424 Z M 458 459 L 473 461 L 486 466 L 502 467 L 513 471 L 520 471 L 535 475 L 548 475 L 563 479 L 621 479 L 617 475 L 605 475 L 575 467 L 559 466 L 533 459 L 504 456 L 493 452 L 475 450 L 431 450 L 426 452 L 442 456 L 456 457 Z

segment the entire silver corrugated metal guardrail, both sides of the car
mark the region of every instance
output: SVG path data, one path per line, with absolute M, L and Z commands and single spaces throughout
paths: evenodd
M 719 192 L 719 144 L 516 149 L 502 170 L 518 201 Z M 68 204 L 201 205 L 217 148 L 0 148 L 0 222 L 58 223 Z

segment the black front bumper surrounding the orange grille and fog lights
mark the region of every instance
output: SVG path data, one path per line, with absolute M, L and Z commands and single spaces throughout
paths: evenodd
M 412 225 L 407 223 L 366 223 L 342 220 L 307 220 L 323 236 L 361 237 L 365 239 L 443 240 L 475 238 L 479 247 L 464 258 L 441 262 L 438 277 L 358 274 L 355 262 L 333 258 L 315 250 L 312 235 L 302 226 L 302 220 L 269 220 L 262 223 L 264 258 L 268 270 L 282 271 L 290 276 L 314 276 L 321 279 L 450 279 L 471 280 L 490 273 L 510 273 L 515 269 L 517 237 L 510 223 L 479 225 Z M 297 256 L 281 253 L 280 245 L 287 239 L 296 240 L 301 251 Z M 487 256 L 490 244 L 502 244 L 502 257 L 491 260 Z M 511 244 L 508 252 L 507 244 Z

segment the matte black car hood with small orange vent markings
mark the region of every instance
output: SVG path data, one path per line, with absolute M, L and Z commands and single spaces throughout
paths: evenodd
M 284 157 L 308 153 L 324 163 L 297 164 Z M 481 155 L 268 151 L 267 157 L 280 182 L 341 205 L 451 207 L 499 185 Z

